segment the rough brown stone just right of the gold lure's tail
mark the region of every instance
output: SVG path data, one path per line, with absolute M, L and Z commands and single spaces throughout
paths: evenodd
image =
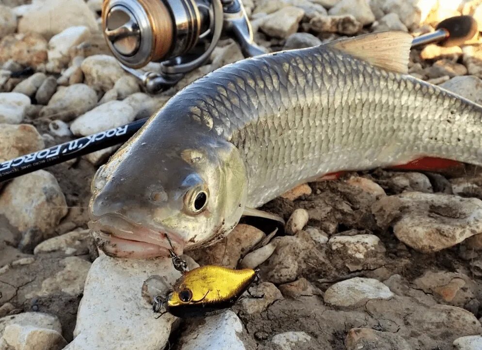
M 279 289 L 269 282 L 259 283 L 251 287 L 249 291 L 255 298 L 246 296 L 246 298 L 241 300 L 241 309 L 248 315 L 259 314 L 266 310 L 275 300 L 284 299 Z

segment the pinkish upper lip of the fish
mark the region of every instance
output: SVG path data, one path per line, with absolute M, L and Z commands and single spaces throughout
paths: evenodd
M 114 221 L 115 225 L 112 224 L 112 221 Z M 169 235 L 169 240 L 175 251 L 182 252 L 186 244 L 179 234 L 175 232 L 168 232 L 155 229 L 149 225 L 134 223 L 126 217 L 118 214 L 104 214 L 100 217 L 93 217 L 88 222 L 88 226 L 91 230 L 104 233 L 104 236 L 107 234 L 108 237 L 113 236 L 126 241 L 132 241 L 132 244 L 135 244 L 135 242 L 142 242 L 147 245 L 159 246 L 171 250 L 171 245 L 167 239 L 165 239 L 167 235 Z M 139 234 L 139 232 L 144 233 L 144 236 Z

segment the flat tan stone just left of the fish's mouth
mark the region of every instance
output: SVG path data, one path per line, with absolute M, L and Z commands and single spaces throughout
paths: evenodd
M 43 241 L 35 247 L 33 254 L 87 255 L 89 254 L 90 242 L 90 230 L 71 231 Z

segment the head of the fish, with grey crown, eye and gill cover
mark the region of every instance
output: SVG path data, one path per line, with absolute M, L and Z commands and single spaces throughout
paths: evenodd
M 92 182 L 91 222 L 108 255 L 146 258 L 212 242 L 239 221 L 246 171 L 239 151 L 207 136 L 141 133 L 100 167 Z M 151 138 L 152 139 L 152 138 Z

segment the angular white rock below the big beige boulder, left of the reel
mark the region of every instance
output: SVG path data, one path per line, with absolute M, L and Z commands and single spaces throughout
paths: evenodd
M 91 32 L 86 26 L 70 27 L 52 36 L 48 42 L 48 71 L 59 73 L 70 61 L 69 50 L 90 36 Z

